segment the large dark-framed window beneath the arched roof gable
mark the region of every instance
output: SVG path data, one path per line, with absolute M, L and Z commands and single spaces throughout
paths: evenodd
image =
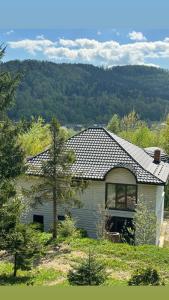
M 128 184 L 106 184 L 106 208 L 134 210 L 137 202 L 137 186 Z

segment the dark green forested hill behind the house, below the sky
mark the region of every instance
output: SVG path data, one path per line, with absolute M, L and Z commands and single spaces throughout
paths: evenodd
M 56 115 L 61 123 L 107 123 L 135 109 L 141 118 L 160 120 L 169 112 L 169 72 L 154 67 L 104 69 L 84 64 L 10 61 L 1 71 L 21 73 L 10 116 Z

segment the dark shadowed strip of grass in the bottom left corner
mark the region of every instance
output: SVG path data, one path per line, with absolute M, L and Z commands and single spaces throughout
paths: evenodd
M 0 286 L 1 285 L 18 285 L 18 284 L 25 284 L 25 285 L 33 285 L 34 280 L 31 276 L 18 276 L 14 277 L 13 275 L 0 275 Z

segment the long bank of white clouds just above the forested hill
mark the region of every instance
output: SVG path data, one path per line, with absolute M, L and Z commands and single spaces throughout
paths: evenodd
M 9 42 L 12 49 L 23 49 L 56 62 L 90 63 L 110 67 L 114 65 L 152 65 L 155 59 L 169 58 L 169 38 L 163 41 L 139 41 L 120 44 L 117 41 L 100 42 L 94 39 L 24 39 Z M 153 61 L 152 61 L 153 60 Z

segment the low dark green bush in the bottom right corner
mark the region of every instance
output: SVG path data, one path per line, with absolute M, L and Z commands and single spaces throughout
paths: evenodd
M 137 270 L 128 281 L 128 285 L 164 285 L 157 270 L 146 268 Z

